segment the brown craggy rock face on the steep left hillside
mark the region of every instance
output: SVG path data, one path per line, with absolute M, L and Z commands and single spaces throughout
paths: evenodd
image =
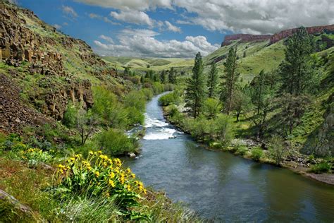
M 39 31 L 30 29 L 32 21 Z M 0 90 L 0 129 L 19 132 L 20 126 L 35 125 L 38 120 L 44 122 L 47 116 L 61 120 L 69 101 L 82 104 L 84 108 L 92 107 L 92 84 L 89 80 L 75 78 L 66 70 L 64 63 L 68 62 L 68 58 L 61 53 L 64 50 L 57 51 L 59 47 L 73 52 L 72 59 L 87 67 L 87 71 L 82 72 L 98 78 L 115 76 L 116 71 L 107 67 L 84 41 L 62 35 L 39 20 L 32 11 L 0 1 L 0 61 L 15 67 L 28 64 L 25 73 L 13 75 L 13 80 L 2 76 L 1 88 L 11 83 L 15 85 L 20 81 L 16 81 L 16 78 L 24 79 L 35 73 L 44 76 L 34 87 L 35 90 L 25 92 L 36 111 L 28 109 L 20 101 L 19 92 L 24 92 L 24 89 L 16 88 L 13 89 L 15 92 L 8 93 Z

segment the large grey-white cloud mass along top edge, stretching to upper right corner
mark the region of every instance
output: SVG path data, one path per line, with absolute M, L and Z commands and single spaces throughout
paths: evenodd
M 301 25 L 334 23 L 333 0 L 75 0 L 120 11 L 183 8 L 178 24 L 201 25 L 211 31 L 274 33 Z

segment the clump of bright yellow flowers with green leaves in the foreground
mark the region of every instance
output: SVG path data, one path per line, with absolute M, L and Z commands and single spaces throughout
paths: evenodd
M 117 205 L 125 219 L 149 219 L 149 215 L 132 210 L 140 205 L 141 194 L 147 190 L 130 169 L 122 168 L 120 159 L 90 151 L 87 159 L 75 155 L 68 159 L 66 166 L 59 164 L 56 176 L 58 186 L 54 195 L 63 203 L 68 203 L 73 196 L 105 198 Z

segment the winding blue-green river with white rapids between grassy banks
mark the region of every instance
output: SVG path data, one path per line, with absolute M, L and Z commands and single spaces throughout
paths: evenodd
M 147 104 L 142 153 L 126 159 L 145 185 L 217 222 L 334 222 L 334 187 L 229 152 L 206 150 Z

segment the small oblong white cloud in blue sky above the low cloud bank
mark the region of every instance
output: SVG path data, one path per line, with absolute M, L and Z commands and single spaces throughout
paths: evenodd
M 154 20 L 151 20 L 147 13 L 144 13 L 143 11 L 126 10 L 120 11 L 120 13 L 112 11 L 110 16 L 125 23 L 149 25 L 151 27 L 154 25 Z

